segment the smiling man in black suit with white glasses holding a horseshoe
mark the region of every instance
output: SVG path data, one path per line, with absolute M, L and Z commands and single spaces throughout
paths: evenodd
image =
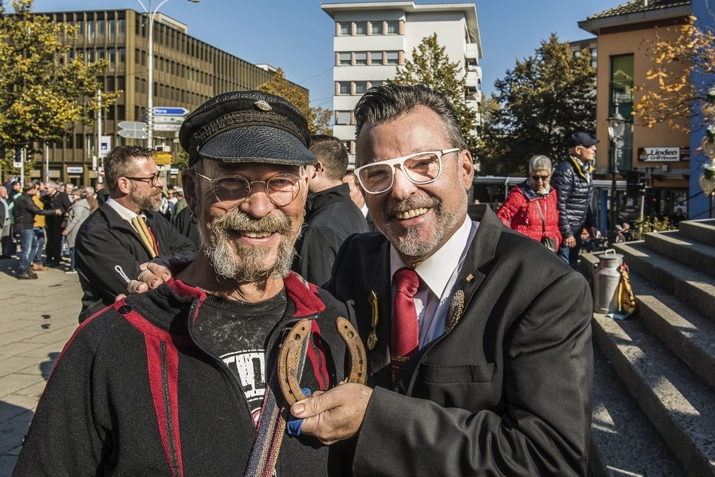
M 356 476 L 585 476 L 586 281 L 468 210 L 473 160 L 444 97 L 374 87 L 355 119 L 355 174 L 384 236 L 346 240 L 327 290 L 355 303 L 368 385 L 295 403 L 302 432 L 356 438 Z

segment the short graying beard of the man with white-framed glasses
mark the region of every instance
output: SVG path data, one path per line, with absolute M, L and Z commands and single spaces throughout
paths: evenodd
M 467 194 L 464 193 L 465 202 Z M 398 235 L 393 227 L 391 220 L 398 212 L 408 212 L 408 210 L 418 209 L 420 207 L 432 208 L 437 217 L 437 226 L 435 227 L 435 235 L 431 240 L 423 240 L 420 238 L 420 226 L 413 225 L 404 227 L 403 235 Z M 442 205 L 442 200 L 438 197 L 408 197 L 402 202 L 389 207 L 383 215 L 383 227 L 380 232 L 383 232 L 385 237 L 388 237 L 390 243 L 398 250 L 398 252 L 408 257 L 422 257 L 427 255 L 437 247 L 439 243 L 454 229 L 457 222 L 460 220 L 461 210 L 445 210 Z

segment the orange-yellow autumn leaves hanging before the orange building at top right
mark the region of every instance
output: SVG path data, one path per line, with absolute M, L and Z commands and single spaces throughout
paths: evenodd
M 715 68 L 715 34 L 696 26 L 696 17 L 676 27 L 673 40 L 658 39 L 646 45 L 646 54 L 653 61 L 647 72 L 648 84 L 636 85 L 644 96 L 635 104 L 633 112 L 641 125 L 667 122 L 671 129 L 689 132 L 691 119 L 699 114 L 699 104 L 713 87 Z M 670 29 L 666 29 L 670 31 Z M 691 76 L 696 74 L 706 81 L 696 87 Z

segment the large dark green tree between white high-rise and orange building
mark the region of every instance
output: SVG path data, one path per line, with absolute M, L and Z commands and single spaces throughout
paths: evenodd
M 494 82 L 496 102 L 501 106 L 485 118 L 485 129 L 498 144 L 479 149 L 480 160 L 501 159 L 501 173 L 513 174 L 536 154 L 555 163 L 568 156 L 566 139 L 574 132 L 596 132 L 596 72 L 591 55 L 574 56 L 567 41 L 551 34 L 541 41 L 534 56 L 516 61 L 503 79 Z

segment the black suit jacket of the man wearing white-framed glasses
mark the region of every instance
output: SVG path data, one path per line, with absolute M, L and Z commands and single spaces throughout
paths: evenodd
M 464 313 L 390 383 L 390 243 L 345 241 L 326 287 L 354 302 L 366 341 L 371 292 L 375 387 L 360 428 L 355 476 L 585 476 L 591 429 L 593 304 L 583 277 L 505 227 L 485 205 L 455 290 Z

